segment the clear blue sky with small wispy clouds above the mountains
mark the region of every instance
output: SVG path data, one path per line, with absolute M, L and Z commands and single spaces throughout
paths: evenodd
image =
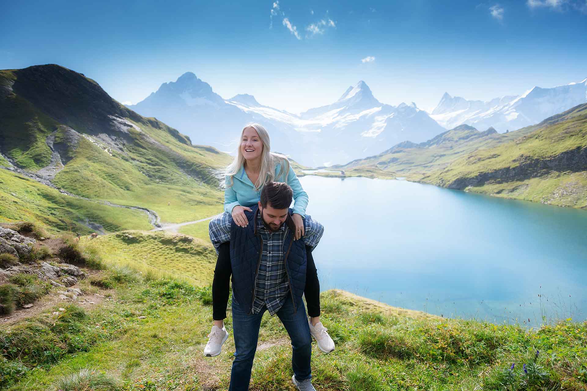
M 57 63 L 132 103 L 190 71 L 293 112 L 359 80 L 429 109 L 587 77 L 587 0 L 90 3 L 5 2 L 0 69 Z

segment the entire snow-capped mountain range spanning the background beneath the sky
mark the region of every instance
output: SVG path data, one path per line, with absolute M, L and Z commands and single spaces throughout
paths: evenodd
M 445 93 L 429 115 L 413 102 L 383 104 L 365 81 L 359 81 L 332 104 L 298 115 L 260 104 L 249 94 L 224 99 L 187 72 L 129 108 L 228 152 L 234 151 L 242 127 L 258 122 L 268 129 L 272 150 L 303 165 L 329 166 L 379 154 L 402 141 L 424 142 L 463 124 L 497 132 L 517 130 L 586 101 L 587 79 L 490 101 Z

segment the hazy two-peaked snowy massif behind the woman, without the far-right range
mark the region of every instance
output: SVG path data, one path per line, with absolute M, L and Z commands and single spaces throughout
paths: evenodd
M 426 141 L 444 131 L 414 103 L 380 103 L 365 81 L 348 87 L 332 104 L 296 115 L 259 104 L 248 94 L 222 100 L 188 72 L 129 108 L 224 151 L 236 147 L 244 124 L 258 122 L 268 129 L 274 151 L 309 166 L 342 164 L 380 152 L 382 145 Z

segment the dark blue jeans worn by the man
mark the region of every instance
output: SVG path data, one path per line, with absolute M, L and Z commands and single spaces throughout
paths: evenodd
M 312 377 L 310 369 L 312 340 L 308 318 L 306 318 L 306 308 L 301 298 L 296 302 L 296 307 L 298 310 L 294 313 L 294 304 L 291 295 L 288 295 L 283 307 L 277 311 L 276 315 L 284 324 L 292 341 L 292 368 L 296 380 L 301 382 Z M 241 305 L 234 300 L 234 295 L 232 295 L 232 331 L 237 351 L 234 353 L 228 391 L 247 391 L 249 389 L 261 318 L 265 311 L 266 308 L 259 314 L 251 313 L 249 315 L 241 310 Z

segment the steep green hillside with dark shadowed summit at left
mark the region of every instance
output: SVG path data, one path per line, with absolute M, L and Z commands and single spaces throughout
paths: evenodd
M 57 65 L 0 71 L 0 153 L 0 165 L 78 196 L 154 210 L 170 223 L 221 211 L 210 170 L 230 161 Z

